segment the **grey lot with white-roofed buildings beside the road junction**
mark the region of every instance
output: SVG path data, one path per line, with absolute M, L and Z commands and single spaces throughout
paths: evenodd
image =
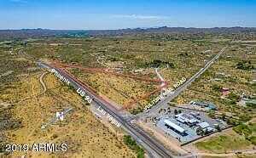
M 178 110 L 179 113 L 176 113 L 175 115 L 174 110 Z M 180 118 L 179 116 L 187 116 L 188 118 Z M 171 121 L 171 125 L 166 125 L 166 121 Z M 207 113 L 205 112 L 179 109 L 176 107 L 171 107 L 168 110 L 163 110 L 160 112 L 159 116 L 156 117 L 155 125 L 163 130 L 166 135 L 177 138 L 177 140 L 181 143 L 186 143 L 202 137 L 204 134 L 198 133 L 198 128 L 201 127 L 200 125 L 207 125 L 206 128 L 201 127 L 201 130 L 204 132 L 207 131 L 207 133 L 216 132 L 216 127 L 227 127 L 227 124 L 224 121 L 212 119 L 211 117 L 207 116 Z M 179 133 L 176 128 L 183 130 L 184 133 Z

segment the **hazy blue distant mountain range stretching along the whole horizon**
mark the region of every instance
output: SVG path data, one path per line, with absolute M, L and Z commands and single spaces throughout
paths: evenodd
M 214 27 L 214 28 L 185 28 L 185 27 L 152 27 L 128 28 L 119 30 L 49 30 L 49 29 L 21 29 L 0 30 L 0 40 L 14 38 L 38 37 L 86 37 L 86 36 L 121 36 L 144 33 L 239 33 L 256 32 L 255 27 Z

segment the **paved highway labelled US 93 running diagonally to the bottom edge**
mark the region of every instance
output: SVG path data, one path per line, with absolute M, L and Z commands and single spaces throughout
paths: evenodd
M 51 65 L 44 64 L 42 62 L 38 62 L 38 65 L 41 67 L 47 68 L 47 69 L 55 69 L 56 71 L 59 71 L 59 73 L 66 77 L 70 84 L 75 88 L 78 89 L 79 87 L 84 90 L 87 95 L 90 95 L 90 97 L 93 99 L 91 104 L 97 104 L 101 106 L 101 108 L 105 111 L 107 111 L 110 115 L 112 115 L 119 123 L 121 124 L 121 127 L 125 129 L 127 133 L 131 135 L 132 138 L 137 140 L 138 144 L 141 144 L 145 150 L 147 150 L 148 155 L 150 157 L 174 157 L 171 152 L 166 150 L 166 148 L 160 144 L 157 140 L 154 138 L 151 138 L 148 133 L 145 133 L 143 129 L 140 127 L 137 127 L 135 124 L 132 124 L 130 119 L 125 119 L 119 111 L 115 110 L 111 104 L 109 104 L 107 101 L 101 99 L 99 96 L 97 96 L 94 92 L 91 92 L 88 87 L 85 87 L 82 82 L 79 82 L 76 78 L 74 78 L 71 74 L 67 73 L 67 71 L 63 71 L 59 68 L 56 68 Z

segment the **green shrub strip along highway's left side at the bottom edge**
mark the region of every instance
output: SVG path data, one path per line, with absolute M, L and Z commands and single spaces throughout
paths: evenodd
M 131 150 L 136 151 L 137 158 L 143 158 L 144 157 L 145 151 L 143 150 L 143 148 L 141 148 L 139 145 L 137 145 L 136 141 L 133 140 L 130 135 L 125 135 L 124 136 L 124 142 L 125 142 L 126 145 L 129 146 L 129 148 Z

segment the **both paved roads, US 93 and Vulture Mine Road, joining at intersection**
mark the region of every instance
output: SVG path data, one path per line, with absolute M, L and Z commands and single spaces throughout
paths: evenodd
M 78 89 L 78 88 L 83 89 L 84 92 L 93 99 L 91 104 L 97 104 L 102 108 L 102 110 L 107 111 L 108 114 L 113 116 L 113 118 L 116 119 L 116 121 L 119 121 L 121 124 L 121 127 L 127 133 L 129 133 L 131 137 L 137 141 L 138 144 L 141 144 L 144 147 L 144 149 L 148 151 L 148 155 L 150 157 L 177 157 L 173 153 L 171 153 L 169 150 L 166 150 L 166 147 L 163 144 L 160 144 L 158 140 L 156 140 L 155 138 L 152 138 L 150 135 L 148 135 L 148 133 L 143 131 L 142 128 L 137 127 L 137 125 L 133 124 L 132 120 L 134 118 L 139 118 L 141 116 L 145 116 L 145 115 L 148 116 L 150 114 L 154 114 L 161 108 L 165 107 L 167 103 L 169 103 L 172 99 L 176 98 L 178 94 L 182 93 L 187 87 L 189 87 L 189 85 L 192 82 L 194 82 L 196 78 L 200 77 L 201 74 L 207 71 L 207 69 L 219 58 L 219 56 L 224 53 L 224 50 L 227 47 L 228 46 L 222 48 L 221 51 L 216 56 L 214 56 L 213 59 L 209 60 L 207 64 L 203 68 L 201 68 L 200 71 L 198 71 L 194 76 L 189 78 L 189 80 L 183 83 L 183 85 L 181 85 L 180 87 L 177 87 L 177 89 L 173 93 L 169 93 L 165 99 L 160 100 L 160 102 L 154 105 L 154 107 L 152 107 L 149 110 L 146 110 L 142 114 L 139 114 L 135 117 L 130 115 L 127 116 L 127 114 L 124 115 L 124 113 L 122 113 L 121 111 L 116 110 L 112 104 L 108 103 L 108 101 L 106 101 L 105 99 L 102 99 L 95 92 L 91 91 L 89 87 L 84 85 L 83 82 L 80 82 L 79 79 L 75 78 L 73 75 L 71 75 L 67 71 L 62 70 L 61 68 L 55 67 L 53 65 L 45 64 L 41 61 L 38 62 L 38 65 L 47 69 L 55 69 L 56 71 L 58 71 L 58 73 L 61 74 L 61 76 L 66 77 L 70 82 L 70 84 L 75 89 Z M 193 157 L 193 155 L 190 155 L 190 157 Z

